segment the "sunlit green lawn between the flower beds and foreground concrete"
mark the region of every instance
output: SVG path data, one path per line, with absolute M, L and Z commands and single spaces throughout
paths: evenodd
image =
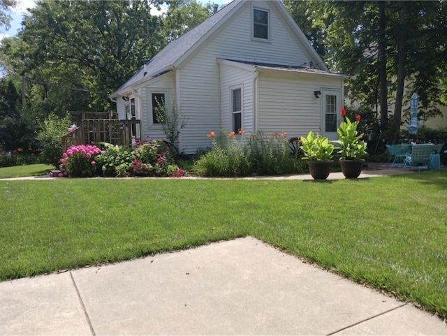
M 447 316 L 446 170 L 358 180 L 0 181 L 0 279 L 252 235 Z

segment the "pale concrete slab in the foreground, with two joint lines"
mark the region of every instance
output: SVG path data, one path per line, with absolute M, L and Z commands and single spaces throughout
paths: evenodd
M 447 335 L 251 237 L 0 282 L 1 335 Z

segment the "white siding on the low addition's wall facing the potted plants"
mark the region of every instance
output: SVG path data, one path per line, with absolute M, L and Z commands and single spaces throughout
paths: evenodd
M 341 80 L 302 73 L 261 73 L 258 84 L 258 131 L 305 136 L 321 133 L 321 98 L 314 91 L 342 89 Z

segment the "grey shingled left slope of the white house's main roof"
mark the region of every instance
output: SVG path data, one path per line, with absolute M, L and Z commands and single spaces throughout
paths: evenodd
M 140 70 L 133 75 L 127 82 L 124 83 L 117 91 L 112 94 L 115 96 L 119 91 L 125 87 L 133 85 L 135 82 L 142 80 L 143 78 L 154 78 L 157 75 L 161 75 L 174 68 L 174 64 L 179 61 L 186 52 L 191 50 L 193 46 L 198 43 L 200 38 L 203 38 L 205 34 L 214 30 L 220 22 L 233 10 L 237 5 L 240 5 L 242 0 L 234 0 L 225 7 L 218 10 L 216 13 L 208 17 L 205 21 L 193 27 L 185 34 L 170 42 L 163 48 L 158 54 L 154 56 L 147 64 L 142 66 Z M 228 15 L 229 17 L 230 15 Z

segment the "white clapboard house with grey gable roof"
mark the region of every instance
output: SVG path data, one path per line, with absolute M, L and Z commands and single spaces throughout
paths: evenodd
M 337 138 L 343 82 L 331 73 L 281 1 L 233 1 L 171 42 L 111 98 L 135 138 L 165 139 L 157 101 L 187 123 L 179 149 L 210 147 L 210 131 L 309 131 Z

